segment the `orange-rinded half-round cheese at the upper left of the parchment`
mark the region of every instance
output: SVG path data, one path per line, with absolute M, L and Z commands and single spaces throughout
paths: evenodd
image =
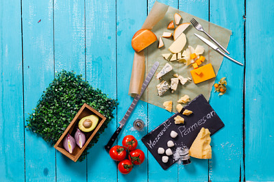
M 140 52 L 142 49 L 145 49 L 156 40 L 157 37 L 152 31 L 149 29 L 140 29 L 134 34 L 132 38 L 132 48 L 134 51 Z

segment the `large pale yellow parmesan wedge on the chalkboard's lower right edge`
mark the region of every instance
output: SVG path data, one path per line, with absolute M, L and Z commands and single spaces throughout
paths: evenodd
M 196 139 L 190 146 L 189 155 L 198 159 L 211 159 L 212 151 L 210 142 L 210 131 L 202 127 Z

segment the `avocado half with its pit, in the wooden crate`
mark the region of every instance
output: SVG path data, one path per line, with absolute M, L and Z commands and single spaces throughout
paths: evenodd
M 80 130 L 84 132 L 90 132 L 97 126 L 97 123 L 99 121 L 98 116 L 90 115 L 82 118 L 79 123 L 78 127 Z

